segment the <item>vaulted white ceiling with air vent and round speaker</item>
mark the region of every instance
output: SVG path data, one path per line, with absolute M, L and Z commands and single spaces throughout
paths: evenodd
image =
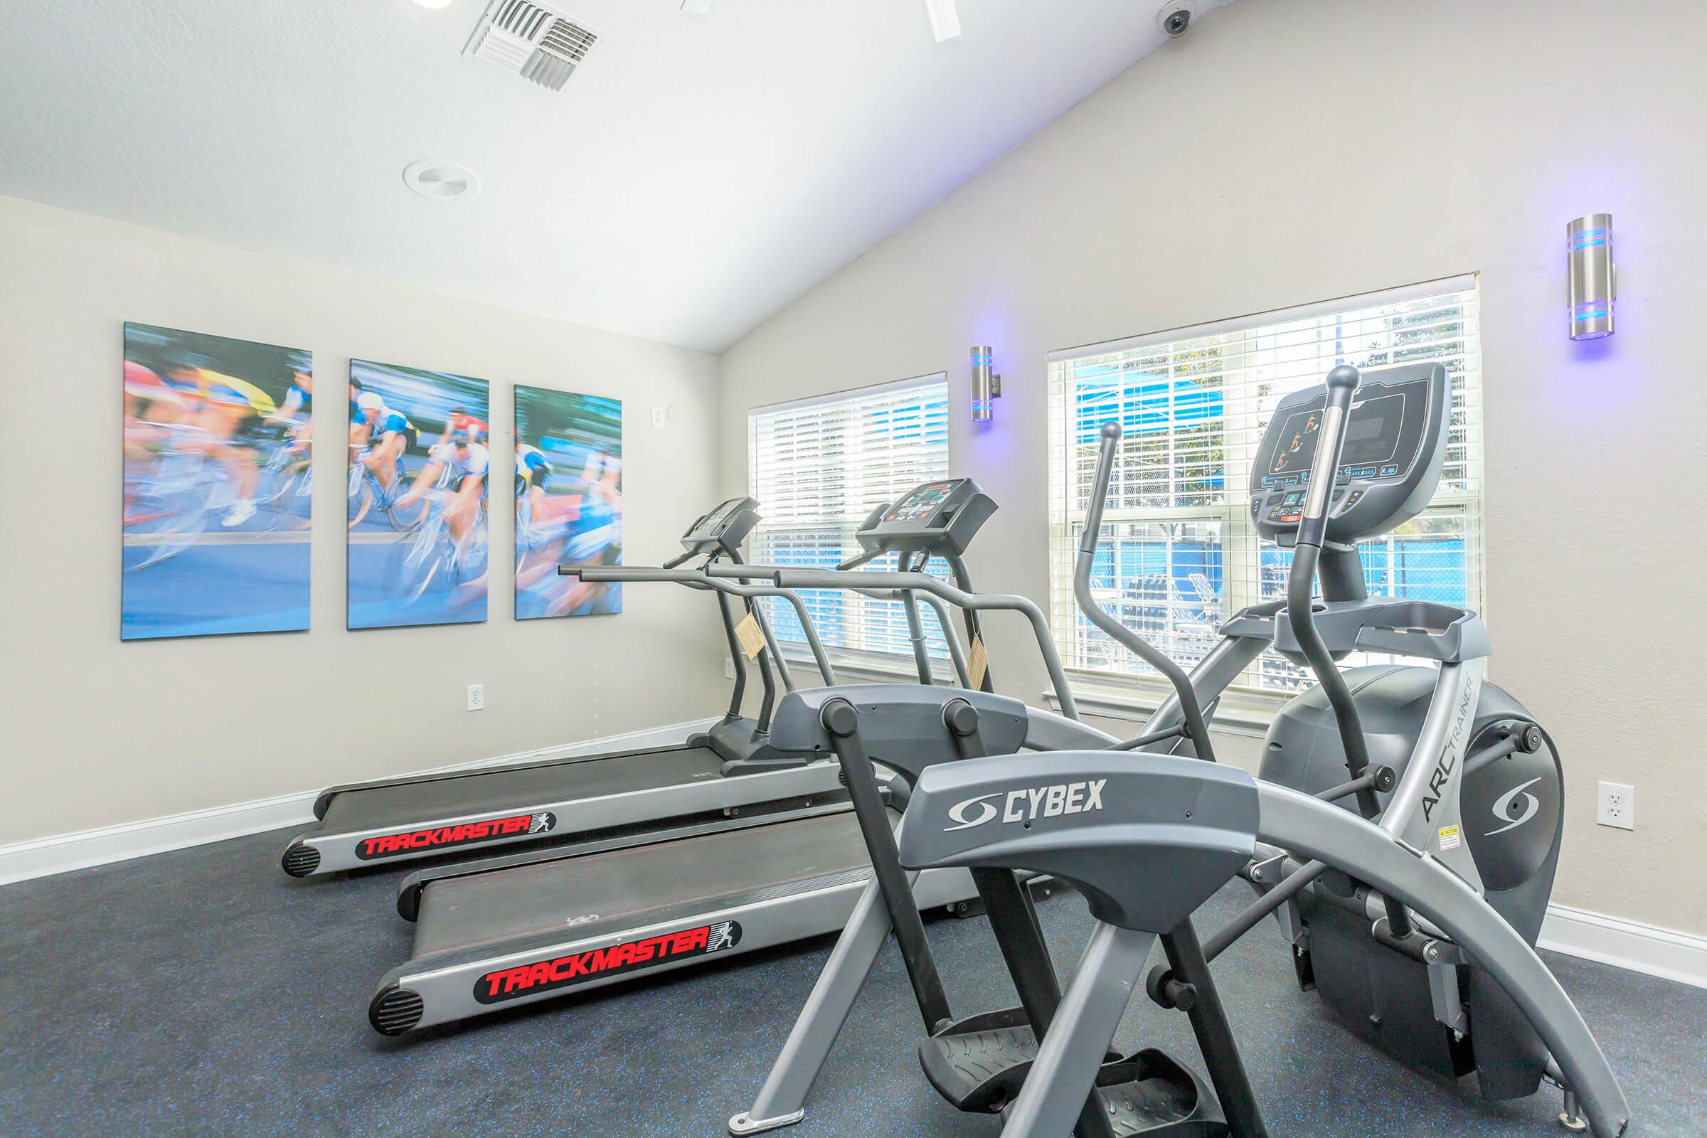
M 10 0 L 0 195 L 720 350 L 1156 49 L 1159 2 L 959 0 L 937 44 L 922 0 L 562 0 L 603 38 L 553 94 L 461 55 L 485 0 Z

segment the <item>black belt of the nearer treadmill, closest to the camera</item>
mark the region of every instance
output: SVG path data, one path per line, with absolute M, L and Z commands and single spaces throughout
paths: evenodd
M 891 826 L 898 816 L 891 812 Z M 685 903 L 780 889 L 871 865 L 852 810 L 434 882 L 413 959 L 541 933 L 645 923 Z M 597 920 L 586 920 L 597 914 Z

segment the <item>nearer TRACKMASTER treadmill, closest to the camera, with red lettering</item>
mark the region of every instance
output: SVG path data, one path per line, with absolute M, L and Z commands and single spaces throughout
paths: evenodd
M 925 483 L 867 519 L 864 553 L 854 563 L 894 551 L 903 570 L 930 556 L 961 566 L 959 553 L 993 508 L 971 479 Z M 582 580 L 613 580 L 616 572 L 623 570 L 563 568 Z M 939 589 L 956 604 L 1012 607 L 920 572 L 872 578 L 886 595 L 901 599 L 913 630 L 920 630 L 913 592 Z M 958 659 L 951 624 L 944 635 Z M 922 682 L 930 682 L 927 657 L 920 652 L 917 659 Z M 881 759 L 881 751 L 874 756 Z M 888 771 L 876 775 L 879 787 L 889 785 Z M 889 824 L 900 817 L 898 802 L 889 802 Z M 871 856 L 847 792 L 763 817 L 420 870 L 398 894 L 398 913 L 415 923 L 410 959 L 381 978 L 369 1022 L 381 1034 L 399 1036 L 836 932 L 869 880 Z M 966 870 L 930 870 L 913 884 L 913 896 L 920 909 L 964 913 L 976 889 Z

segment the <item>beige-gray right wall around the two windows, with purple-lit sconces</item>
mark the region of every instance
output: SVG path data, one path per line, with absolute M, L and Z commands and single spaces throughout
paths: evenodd
M 947 369 L 954 469 L 1002 503 L 973 570 L 1043 602 L 1048 350 L 1480 271 L 1492 677 L 1565 752 L 1557 897 L 1707 932 L 1704 48 L 1681 2 L 1210 12 L 732 346 L 724 490 L 751 406 Z M 1564 225 L 1603 210 L 1618 336 L 1574 345 Z M 975 430 L 980 341 L 1005 392 Z M 1038 696 L 1021 630 L 992 659 Z M 1601 778 L 1637 787 L 1635 833 L 1594 826 Z

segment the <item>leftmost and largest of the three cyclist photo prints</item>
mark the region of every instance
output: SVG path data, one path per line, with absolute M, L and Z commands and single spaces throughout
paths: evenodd
M 309 626 L 312 360 L 125 324 L 125 640 Z

